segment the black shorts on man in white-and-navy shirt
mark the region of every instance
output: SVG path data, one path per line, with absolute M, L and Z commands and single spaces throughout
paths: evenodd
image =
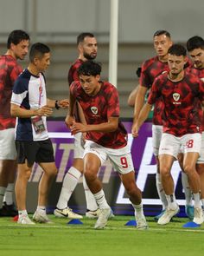
M 54 162 L 54 149 L 50 139 L 45 141 L 16 141 L 17 163 L 28 161 L 29 167 L 34 162 Z

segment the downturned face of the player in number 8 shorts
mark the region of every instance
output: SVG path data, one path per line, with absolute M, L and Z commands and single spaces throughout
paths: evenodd
M 171 75 L 179 75 L 186 63 L 185 56 L 168 55 L 168 64 Z

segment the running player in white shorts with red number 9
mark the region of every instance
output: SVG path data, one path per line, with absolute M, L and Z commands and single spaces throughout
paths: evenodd
M 127 132 L 118 121 L 118 91 L 111 83 L 101 82 L 100 73 L 99 63 L 87 61 L 80 65 L 78 69 L 80 81 L 73 82 L 70 87 L 70 107 L 66 118 L 66 123 L 73 134 L 86 133 L 85 177 L 100 209 L 99 218 L 94 227 L 104 228 L 112 214 L 111 207 L 105 200 L 101 181 L 97 177 L 99 167 L 109 158 L 130 196 L 135 209 L 137 228 L 146 229 L 142 195 L 136 185 L 131 151 L 126 141 Z M 76 101 L 83 109 L 86 123 L 74 119 Z

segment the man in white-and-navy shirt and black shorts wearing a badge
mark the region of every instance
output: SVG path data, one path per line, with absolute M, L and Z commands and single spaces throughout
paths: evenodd
M 46 95 L 42 72 L 48 69 L 50 49 L 43 43 L 34 43 L 29 52 L 29 67 L 16 79 L 11 96 L 11 115 L 16 118 L 16 148 L 18 174 L 16 179 L 16 203 L 19 224 L 35 224 L 26 210 L 26 191 L 34 162 L 43 170 L 39 184 L 38 206 L 33 215 L 36 222 L 48 223 L 46 214 L 48 190 L 57 174 L 54 149 L 48 138 L 46 116 L 52 109 L 67 108 L 68 101 L 49 100 Z

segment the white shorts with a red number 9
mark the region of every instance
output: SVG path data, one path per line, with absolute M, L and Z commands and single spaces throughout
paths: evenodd
M 84 156 L 88 153 L 96 154 L 99 157 L 101 165 L 109 159 L 112 162 L 112 167 L 119 174 L 128 174 L 134 171 L 131 149 L 128 145 L 124 148 L 113 149 L 105 148 L 93 141 L 86 141 Z

